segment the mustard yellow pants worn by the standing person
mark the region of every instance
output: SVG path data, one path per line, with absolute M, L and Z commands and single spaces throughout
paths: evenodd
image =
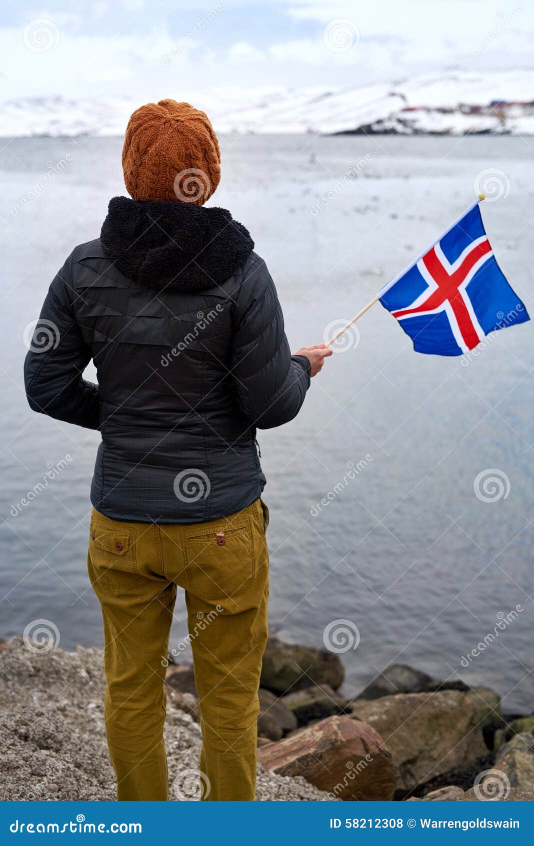
M 88 565 L 104 619 L 117 799 L 168 799 L 165 674 L 177 585 L 199 694 L 202 799 L 254 799 L 268 520 L 261 500 L 194 525 L 124 523 L 93 510 Z

